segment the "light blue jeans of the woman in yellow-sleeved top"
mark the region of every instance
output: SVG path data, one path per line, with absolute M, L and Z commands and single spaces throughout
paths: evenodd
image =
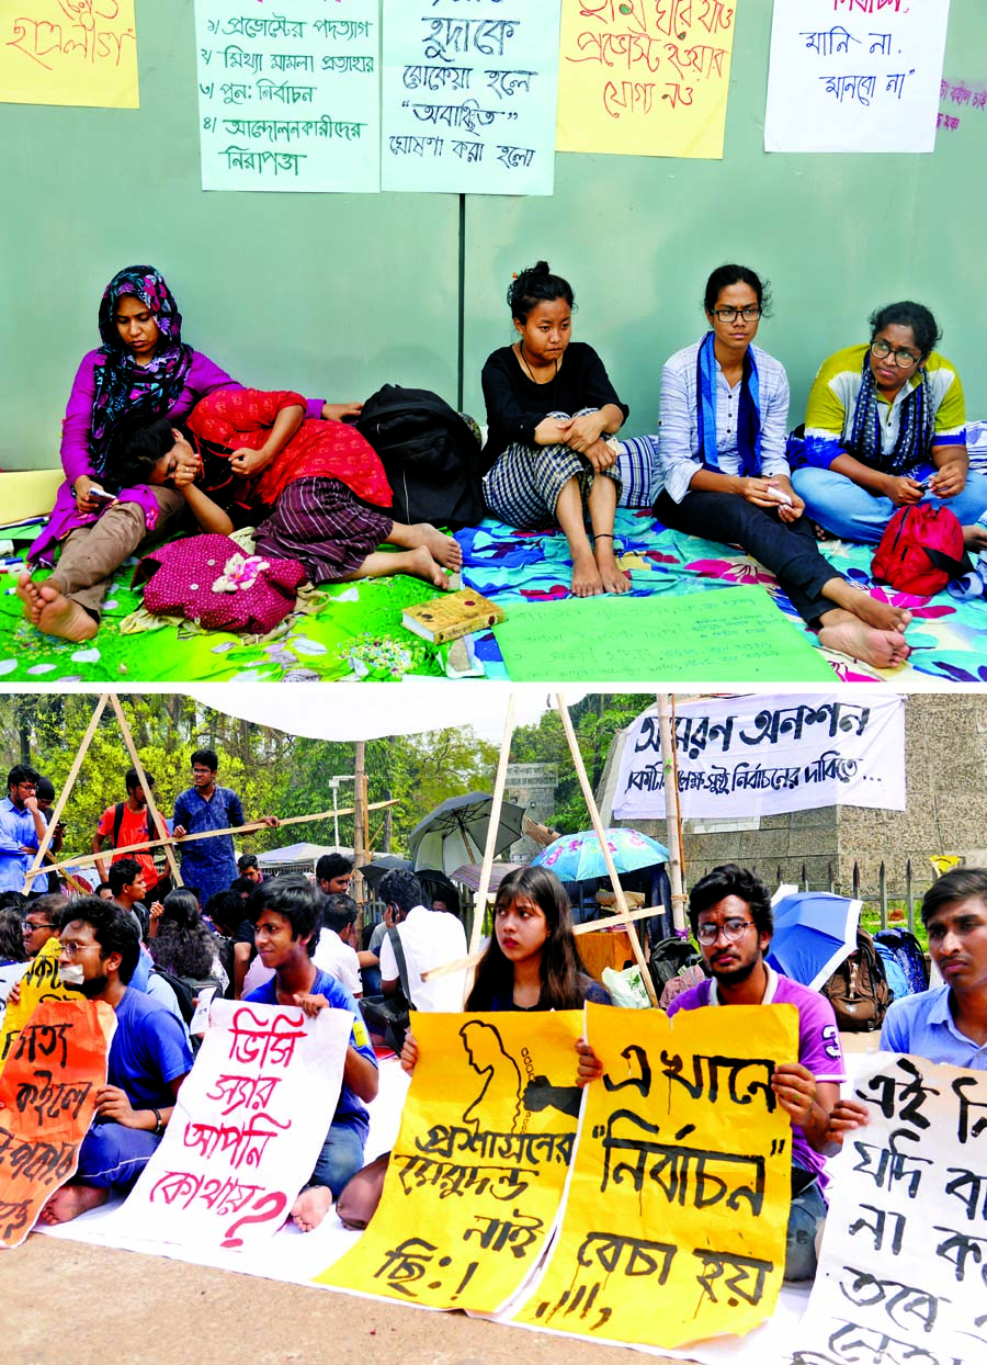
M 923 465 L 915 478 L 921 480 L 932 474 L 932 465 Z M 845 474 L 834 470 L 804 468 L 792 475 L 792 487 L 805 502 L 805 511 L 841 541 L 876 545 L 885 534 L 897 508 L 890 498 L 875 497 Z M 923 502 L 946 506 L 956 513 L 961 526 L 972 526 L 987 509 L 987 478 L 976 471 L 967 475 L 962 493 L 954 498 L 936 498 L 927 493 Z

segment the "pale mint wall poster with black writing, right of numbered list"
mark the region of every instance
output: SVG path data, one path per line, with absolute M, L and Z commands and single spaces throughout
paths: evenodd
M 560 3 L 384 0 L 385 190 L 552 194 Z

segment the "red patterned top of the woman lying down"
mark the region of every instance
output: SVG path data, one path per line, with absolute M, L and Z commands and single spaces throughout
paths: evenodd
M 210 445 L 227 450 L 259 450 L 284 408 L 304 399 L 289 389 L 218 389 L 195 405 L 188 427 Z M 273 506 L 278 493 L 306 476 L 330 476 L 358 498 L 389 508 L 393 494 L 377 450 L 347 422 L 306 418 L 284 450 L 259 475 L 243 480 L 242 501 Z

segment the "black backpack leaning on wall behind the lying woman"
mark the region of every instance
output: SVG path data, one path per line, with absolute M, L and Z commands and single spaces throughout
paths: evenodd
M 431 521 L 450 531 L 483 520 L 479 441 L 445 399 L 385 384 L 363 404 L 355 426 L 381 457 L 395 520 Z

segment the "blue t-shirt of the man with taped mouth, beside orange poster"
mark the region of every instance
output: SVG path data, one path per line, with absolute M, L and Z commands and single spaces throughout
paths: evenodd
M 160 1001 L 130 987 L 116 1006 L 108 1084 L 119 1085 L 134 1108 L 175 1103 L 169 1082 L 192 1067 L 182 1025 Z

